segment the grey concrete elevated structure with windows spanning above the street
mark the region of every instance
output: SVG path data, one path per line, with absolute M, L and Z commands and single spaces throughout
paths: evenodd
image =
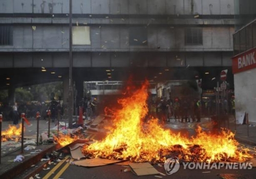
M 120 74 L 132 66 L 137 76 L 143 76 L 140 69 L 151 69 L 142 73 L 150 80 L 161 79 L 166 68 L 166 79 L 202 78 L 207 89 L 216 86 L 211 79 L 218 80 L 221 70 L 231 70 L 233 0 L 73 0 L 72 11 L 79 88 L 86 80 L 121 80 Z M 15 83 L 19 71 L 40 75 L 43 66 L 65 77 L 69 0 L 1 0 L 0 16 L 3 76 L 15 71 Z M 112 76 L 105 72 L 110 68 Z M 33 81 L 29 73 L 26 80 Z M 228 80 L 232 87 L 231 73 Z

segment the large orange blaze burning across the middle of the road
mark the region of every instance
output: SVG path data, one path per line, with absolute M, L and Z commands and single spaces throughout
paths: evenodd
M 239 150 L 231 131 L 222 130 L 218 135 L 202 131 L 187 138 L 163 129 L 157 119 L 144 123 L 148 108 L 148 82 L 131 96 L 119 99 L 122 108 L 114 113 L 114 126 L 102 140 L 83 147 L 91 157 L 124 159 L 134 162 L 163 162 L 169 156 L 194 162 L 243 161 L 251 158 L 246 149 Z

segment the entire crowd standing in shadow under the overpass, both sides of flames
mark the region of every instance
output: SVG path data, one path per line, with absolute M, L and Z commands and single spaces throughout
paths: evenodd
M 235 115 L 234 96 L 230 101 L 219 101 L 219 106 L 226 114 Z M 159 122 L 169 122 L 174 119 L 176 122 L 201 122 L 201 117 L 210 117 L 216 115 L 216 100 L 200 98 L 157 98 L 148 100 L 148 116 L 159 119 Z M 77 110 L 82 110 L 86 119 L 98 115 L 97 98 L 82 98 L 78 104 Z M 54 122 L 58 115 L 65 118 L 67 115 L 67 105 L 62 105 L 60 101 L 52 100 L 50 102 L 31 102 L 14 103 L 13 105 L 3 105 L 0 103 L 0 114 L 3 114 L 4 120 L 12 120 L 13 124 L 18 124 L 20 114 L 25 113 L 27 118 L 35 118 L 39 111 L 41 119 L 48 119 L 51 111 L 51 119 Z

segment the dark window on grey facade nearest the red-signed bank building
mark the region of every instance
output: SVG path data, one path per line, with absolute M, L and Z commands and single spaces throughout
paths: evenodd
M 187 28 L 185 30 L 185 44 L 197 46 L 203 44 L 202 28 Z

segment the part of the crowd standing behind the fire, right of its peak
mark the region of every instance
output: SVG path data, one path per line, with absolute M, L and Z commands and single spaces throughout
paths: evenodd
M 148 101 L 149 116 L 158 118 L 160 122 L 169 122 L 174 119 L 176 122 L 201 122 L 201 118 L 216 115 L 216 100 L 200 98 L 157 98 Z M 221 111 L 226 114 L 234 114 L 234 96 L 231 100 L 219 101 Z

